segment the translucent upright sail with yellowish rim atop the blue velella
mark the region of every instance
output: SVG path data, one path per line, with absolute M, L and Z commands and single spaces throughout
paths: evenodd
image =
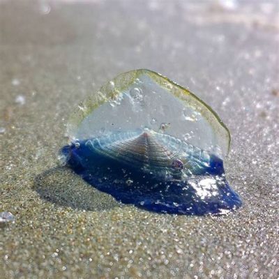
M 105 84 L 78 105 L 67 128 L 70 140 L 149 128 L 220 158 L 230 143 L 229 130 L 209 105 L 150 70 L 132 70 Z

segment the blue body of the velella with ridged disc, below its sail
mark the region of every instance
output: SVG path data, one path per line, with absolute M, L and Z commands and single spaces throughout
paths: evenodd
M 114 133 L 64 146 L 61 153 L 87 183 L 124 204 L 199 216 L 241 206 L 223 160 L 168 135 Z

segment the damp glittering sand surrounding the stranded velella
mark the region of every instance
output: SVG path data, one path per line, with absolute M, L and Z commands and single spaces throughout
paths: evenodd
M 278 43 L 278 1 L 0 1 L 0 278 L 277 278 Z M 59 167 L 75 105 L 135 68 L 218 112 L 241 209 L 151 213 Z

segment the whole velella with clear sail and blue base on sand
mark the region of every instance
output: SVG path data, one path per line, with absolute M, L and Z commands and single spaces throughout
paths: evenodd
M 230 135 L 193 93 L 150 70 L 111 80 L 77 106 L 61 149 L 68 167 L 124 204 L 158 213 L 241 206 L 225 178 Z

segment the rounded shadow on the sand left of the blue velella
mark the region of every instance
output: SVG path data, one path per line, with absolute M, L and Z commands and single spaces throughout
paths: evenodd
M 106 211 L 119 202 L 111 196 L 88 186 L 68 167 L 54 167 L 38 174 L 33 189 L 47 202 L 86 211 Z

